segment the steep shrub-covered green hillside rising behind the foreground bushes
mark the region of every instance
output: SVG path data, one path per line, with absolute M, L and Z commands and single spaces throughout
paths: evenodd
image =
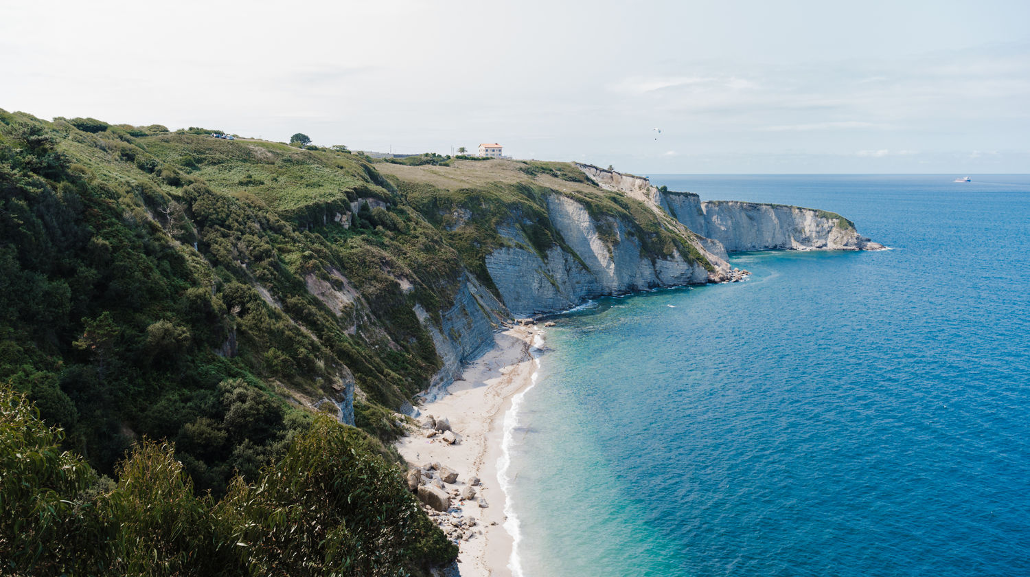
M 411 307 L 441 308 L 456 253 L 367 163 L 263 145 L 0 113 L 0 379 L 103 472 L 175 439 L 221 491 L 351 381 L 357 425 L 388 438 L 383 408 L 439 366 Z M 266 202 L 244 170 L 288 184 Z M 389 204 L 327 219 L 351 199 Z

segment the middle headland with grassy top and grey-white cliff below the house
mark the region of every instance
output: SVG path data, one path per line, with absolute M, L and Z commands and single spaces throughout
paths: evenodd
M 731 277 L 724 259 L 641 194 L 563 163 L 379 165 L 516 316 L 584 299 Z M 632 178 L 613 173 L 625 188 Z M 644 179 L 646 183 L 646 179 Z

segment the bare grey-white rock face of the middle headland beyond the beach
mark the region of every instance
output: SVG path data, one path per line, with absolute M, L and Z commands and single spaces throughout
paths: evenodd
M 572 252 L 554 245 L 539 254 L 521 231 L 510 228 L 501 234 L 512 246 L 486 258 L 490 278 L 516 316 L 565 310 L 590 297 L 709 281 L 702 263 L 678 251 L 654 260 L 642 256 L 640 242 L 627 234 L 627 223 L 616 218 L 598 223 L 583 205 L 560 195 L 548 197 L 547 207 L 551 224 Z M 614 231 L 616 240 L 606 242 L 602 229 Z

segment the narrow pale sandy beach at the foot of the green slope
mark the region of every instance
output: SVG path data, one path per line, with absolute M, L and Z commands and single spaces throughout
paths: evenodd
M 515 327 L 494 334 L 495 346 L 471 363 L 461 378 L 447 387 L 446 394 L 418 407 L 423 415 L 446 417 L 457 437 L 448 444 L 441 435 L 426 438 L 426 430 L 412 430 L 397 448 L 415 467 L 439 463 L 458 473 L 447 489 L 465 489 L 474 477 L 477 496 L 471 500 L 451 499 L 454 514 L 475 519 L 468 528 L 470 537 L 458 542 L 457 569 L 461 577 L 510 576 L 513 538 L 505 528 L 506 496 L 499 479 L 499 460 L 503 455 L 505 414 L 512 397 L 533 384 L 537 361 L 530 347 L 543 331 L 537 327 Z M 536 339 L 536 341 L 535 341 Z M 481 507 L 485 500 L 487 507 Z

